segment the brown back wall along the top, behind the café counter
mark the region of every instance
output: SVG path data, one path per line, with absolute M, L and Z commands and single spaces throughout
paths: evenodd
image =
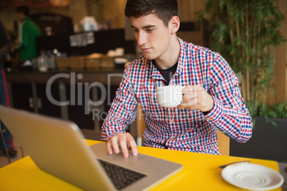
M 178 0 L 178 16 L 181 21 L 196 21 L 196 11 L 203 9 L 203 2 L 204 1 L 196 0 Z M 68 8 L 59 9 L 52 6 L 45 6 L 36 9 L 31 8 L 30 11 L 31 14 L 46 12 L 71 16 L 74 24 L 80 24 L 80 21 L 84 16 L 94 16 L 99 24 L 105 25 L 107 22 L 111 21 L 114 29 L 124 29 L 125 6 L 126 0 L 70 0 L 70 6 Z M 8 30 L 13 29 L 13 21 L 16 19 L 15 8 L 16 6 L 5 6 L 0 4 L 0 18 Z

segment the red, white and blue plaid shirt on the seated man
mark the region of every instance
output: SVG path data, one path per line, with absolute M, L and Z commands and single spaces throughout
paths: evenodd
M 151 60 L 141 56 L 124 71 L 102 126 L 102 140 L 125 132 L 126 126 L 136 119 L 138 103 L 146 123 L 144 146 L 219 155 L 217 129 L 240 143 L 251 138 L 251 116 L 228 63 L 208 48 L 180 38 L 178 41 L 181 53 L 169 85 L 201 85 L 212 96 L 213 109 L 204 115 L 201 110 L 161 107 L 156 100 L 156 88 L 164 86 L 165 80 Z

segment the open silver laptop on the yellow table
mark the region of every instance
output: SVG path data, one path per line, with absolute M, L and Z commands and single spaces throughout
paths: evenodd
M 183 169 L 141 153 L 109 155 L 106 143 L 89 146 L 75 123 L 59 118 L 0 106 L 0 120 L 41 170 L 84 190 L 148 190 Z

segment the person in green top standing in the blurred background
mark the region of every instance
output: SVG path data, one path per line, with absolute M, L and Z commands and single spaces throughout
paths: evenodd
M 31 69 L 31 60 L 38 55 L 36 37 L 41 35 L 41 30 L 29 17 L 28 7 L 18 6 L 16 8 L 16 16 L 20 22 L 18 28 L 18 43 L 15 45 L 16 50 L 19 51 L 20 54 L 20 69 Z

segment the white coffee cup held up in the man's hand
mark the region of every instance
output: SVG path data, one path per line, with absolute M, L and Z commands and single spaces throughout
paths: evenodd
M 174 108 L 182 103 L 182 90 L 185 86 L 172 85 L 156 88 L 156 98 L 163 108 Z

